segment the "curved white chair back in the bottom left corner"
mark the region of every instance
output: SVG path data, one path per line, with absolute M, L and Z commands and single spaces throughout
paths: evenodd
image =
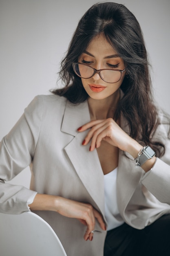
M 0 213 L 0 256 L 66 256 L 50 225 L 32 212 Z

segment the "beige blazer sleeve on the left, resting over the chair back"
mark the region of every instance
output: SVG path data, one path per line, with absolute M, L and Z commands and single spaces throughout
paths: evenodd
M 0 212 L 20 214 L 36 192 L 5 183 L 31 164 L 42 120 L 42 98 L 35 97 L 12 130 L 0 142 Z

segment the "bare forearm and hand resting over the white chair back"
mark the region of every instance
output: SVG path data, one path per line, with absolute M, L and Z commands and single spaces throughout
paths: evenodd
M 106 226 L 102 215 L 91 204 L 77 202 L 74 200 L 62 198 L 55 195 L 37 194 L 32 204 L 29 204 L 31 210 L 56 211 L 68 218 L 76 218 L 82 224 L 87 226 L 84 234 L 85 240 L 92 240 L 92 230 L 95 229 L 95 219 L 103 230 Z

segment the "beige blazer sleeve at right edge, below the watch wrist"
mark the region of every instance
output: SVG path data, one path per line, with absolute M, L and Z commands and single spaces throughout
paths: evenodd
M 155 165 L 143 176 L 141 182 L 160 202 L 170 204 L 170 139 L 168 137 L 165 148 L 163 157 L 157 158 Z

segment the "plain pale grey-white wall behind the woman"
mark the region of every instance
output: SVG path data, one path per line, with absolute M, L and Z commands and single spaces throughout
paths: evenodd
M 55 88 L 78 20 L 95 0 L 0 0 L 0 140 L 37 94 Z M 170 0 L 115 0 L 144 32 L 155 98 L 170 112 Z M 12 182 L 29 186 L 27 168 Z

